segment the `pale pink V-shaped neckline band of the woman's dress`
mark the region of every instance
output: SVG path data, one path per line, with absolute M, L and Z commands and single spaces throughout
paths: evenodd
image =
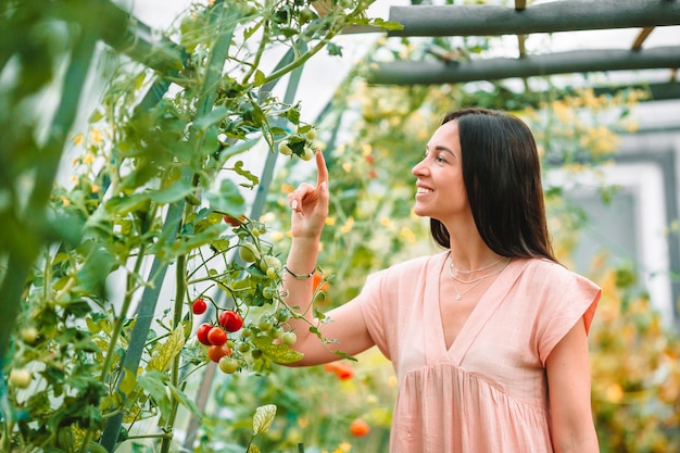
M 521 270 L 525 268 L 527 260 L 514 259 L 508 263 L 507 267 L 491 282 L 489 288 L 481 294 L 479 301 L 473 307 L 467 319 L 463 323 L 461 330 L 456 335 L 455 339 L 449 348 L 446 348 L 446 337 L 444 335 L 444 320 L 441 311 L 441 281 L 440 276 L 443 272 L 443 266 L 446 263 L 448 253 L 443 253 L 441 256 L 442 262 L 439 263 L 438 278 L 432 279 L 433 285 L 437 285 L 435 300 L 435 310 L 429 310 L 433 314 L 431 322 L 437 326 L 433 329 L 433 334 L 437 336 L 437 344 L 441 347 L 444 354 L 455 365 L 461 365 L 467 350 L 470 348 L 477 335 L 481 331 L 487 324 L 493 312 L 503 301 L 505 293 L 513 286 Z M 439 348 L 438 348 L 439 349 Z M 441 351 L 440 350 L 440 351 Z M 438 354 L 439 355 L 439 354 Z

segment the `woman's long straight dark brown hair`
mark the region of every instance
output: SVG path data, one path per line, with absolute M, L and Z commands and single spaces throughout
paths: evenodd
M 518 117 L 486 109 L 448 113 L 461 137 L 463 181 L 477 229 L 495 253 L 512 257 L 553 255 L 545 221 L 536 140 Z M 430 219 L 432 238 L 450 247 L 449 230 Z

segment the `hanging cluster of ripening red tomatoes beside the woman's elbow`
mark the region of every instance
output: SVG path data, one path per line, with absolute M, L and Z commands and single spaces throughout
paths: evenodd
M 193 302 L 193 314 L 201 315 L 206 310 L 207 305 L 204 300 L 197 299 Z M 227 334 L 236 332 L 241 327 L 243 327 L 241 315 L 234 310 L 225 310 L 219 314 L 217 326 L 203 323 L 196 332 L 199 342 L 207 347 L 209 358 L 217 363 L 224 373 L 235 373 L 239 367 L 239 361 L 231 356 Z

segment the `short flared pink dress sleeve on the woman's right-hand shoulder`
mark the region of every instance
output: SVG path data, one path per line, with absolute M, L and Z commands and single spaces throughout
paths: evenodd
M 588 278 L 558 265 L 551 267 L 541 287 L 542 310 L 537 329 L 543 365 L 553 348 L 581 318 L 588 335 L 602 295 L 602 289 Z

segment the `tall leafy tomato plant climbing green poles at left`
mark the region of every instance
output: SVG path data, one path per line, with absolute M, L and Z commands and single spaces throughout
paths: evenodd
M 0 119 L 13 126 L 3 128 L 11 177 L 0 178 L 0 364 L 18 391 L 0 394 L 1 451 L 192 450 L 173 445 L 174 424 L 179 411 L 204 415 L 186 389 L 210 376 L 210 361 L 238 351 L 239 369 L 265 375 L 299 358 L 251 329 L 228 340 L 214 318 L 229 306 L 272 316 L 282 302 L 280 262 L 243 191 L 261 184 L 252 162 L 277 156 L 279 141 L 295 142 L 294 160 L 313 144 L 301 105 L 278 99 L 276 83 L 323 50 L 339 54 L 331 40 L 345 26 L 381 22 L 366 17 L 370 1 L 330 2 L 324 14 L 290 0 L 202 3 L 153 34 L 108 1 L 3 10 L 3 30 L 26 46 L 2 67 L 13 106 Z M 291 58 L 270 66 L 281 48 Z M 83 115 L 89 66 L 105 66 L 105 90 Z M 77 117 L 89 124 L 76 134 Z M 199 316 L 211 318 L 194 326 Z

